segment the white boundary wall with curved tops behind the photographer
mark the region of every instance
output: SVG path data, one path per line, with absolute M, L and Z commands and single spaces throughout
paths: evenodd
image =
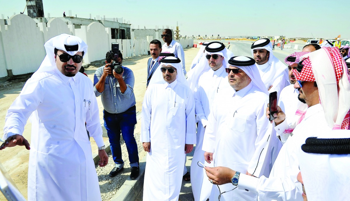
M 115 26 L 116 23 L 118 22 L 111 22 L 109 25 Z M 118 24 L 123 25 L 121 28 L 130 32 L 130 24 Z M 124 57 L 147 54 L 149 40 L 153 39 L 153 36 L 140 39 L 134 39 L 134 37 L 112 39 L 111 28 L 105 27 L 99 21 L 79 27 L 75 28 L 74 24 L 67 24 L 62 17 L 50 18 L 46 22 L 45 18 L 33 20 L 27 15 L 19 14 L 8 20 L 0 20 L 0 82 L 13 76 L 34 73 L 45 57 L 44 43 L 62 33 L 78 36 L 89 46 L 83 64 L 105 59 L 106 52 L 111 50 L 112 42 L 119 43 L 119 49 Z M 134 36 L 135 33 L 130 32 L 130 35 Z M 155 37 L 159 38 L 158 35 Z M 180 39 L 178 42 L 184 48 L 193 46 L 193 39 Z

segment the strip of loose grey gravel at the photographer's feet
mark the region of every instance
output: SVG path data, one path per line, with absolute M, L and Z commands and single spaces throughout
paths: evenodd
M 141 151 L 144 151 L 144 148 L 142 148 L 142 143 L 139 140 L 140 133 L 134 133 L 134 136 L 137 142 L 138 151 L 140 153 Z M 108 164 L 106 166 L 104 166 L 103 168 L 100 168 L 99 166 L 96 165 L 101 197 L 103 201 L 112 199 L 114 194 L 116 194 L 118 189 L 124 184 L 124 181 L 128 177 L 130 177 L 131 168 L 129 164 L 130 162 L 128 158 L 128 152 L 126 150 L 124 141 L 120 141 L 120 144 L 121 144 L 121 152 L 122 152 L 123 161 L 124 161 L 124 170 L 122 172 L 120 172 L 115 177 L 108 176 L 110 171 L 114 168 L 114 162 L 113 162 L 111 152 L 108 153 L 109 159 L 108 159 Z

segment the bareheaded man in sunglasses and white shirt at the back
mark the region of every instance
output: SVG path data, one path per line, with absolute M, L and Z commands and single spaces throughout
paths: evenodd
M 180 43 L 173 40 L 173 31 L 171 29 L 164 29 L 161 35 L 165 44 L 162 46 L 162 52 L 174 53 L 175 57 L 181 60 L 180 65 L 183 70 L 183 74 L 186 75 L 185 69 L 185 53 Z

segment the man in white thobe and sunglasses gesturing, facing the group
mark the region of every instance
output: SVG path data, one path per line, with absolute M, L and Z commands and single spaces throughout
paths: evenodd
M 108 163 L 91 80 L 79 73 L 87 45 L 76 36 L 49 39 L 47 55 L 8 109 L 6 147 L 30 149 L 28 200 L 101 200 L 86 130 Z M 22 136 L 31 116 L 31 147 Z M 86 128 L 85 128 L 86 122 Z

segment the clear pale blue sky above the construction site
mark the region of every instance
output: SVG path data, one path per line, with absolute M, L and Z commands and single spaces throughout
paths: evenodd
M 350 38 L 349 6 L 335 0 L 43 0 L 44 15 L 61 17 L 123 17 L 133 28 L 176 27 L 181 35 L 271 35 L 287 37 Z M 23 11 L 26 0 L 2 2 L 0 14 Z M 342 6 L 344 5 L 344 9 Z M 349 5 L 349 4 L 348 4 Z M 343 10 L 343 11 L 341 11 Z M 25 11 L 27 14 L 27 10 Z M 343 17 L 342 17 L 343 16 Z M 1 16 L 0 16 L 1 17 Z M 312 33 L 312 35 L 311 35 Z

